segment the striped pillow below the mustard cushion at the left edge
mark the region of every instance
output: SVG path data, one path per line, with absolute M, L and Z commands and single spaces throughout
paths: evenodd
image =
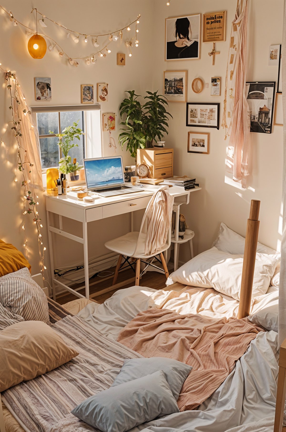
M 0 277 L 0 330 L 20 321 L 50 323 L 47 297 L 27 267 Z

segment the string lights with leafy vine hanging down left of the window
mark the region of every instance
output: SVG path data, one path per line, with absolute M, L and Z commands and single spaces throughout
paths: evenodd
M 33 164 L 29 161 L 27 150 L 23 146 L 22 129 L 21 129 L 21 124 L 22 124 L 22 119 L 20 115 L 21 111 L 25 115 L 25 121 L 27 120 L 30 123 L 30 126 L 33 127 L 31 111 L 29 110 L 28 105 L 25 102 L 25 96 L 22 94 L 22 92 L 20 92 L 19 89 L 20 84 L 18 82 L 16 74 L 12 73 L 10 70 L 7 71 L 4 70 L 1 67 L 1 63 L 0 63 L 0 69 L 3 70 L 3 72 L 5 72 L 5 79 L 7 82 L 7 89 L 9 91 L 10 104 L 11 104 L 9 106 L 9 109 L 12 113 L 12 120 L 9 121 L 8 124 L 6 124 L 6 127 L 4 128 L 4 132 L 1 137 L 1 145 L 6 146 L 3 141 L 3 136 L 5 135 L 10 124 L 12 125 L 11 130 L 13 131 L 14 137 L 16 138 L 17 141 L 16 148 L 18 149 L 18 157 L 16 162 L 16 168 L 15 168 L 14 182 L 17 182 L 16 172 L 19 170 L 22 173 L 21 187 L 23 187 L 23 203 L 22 203 L 23 206 L 22 230 L 24 232 L 23 246 L 26 249 L 27 258 L 29 259 L 29 249 L 28 249 L 28 241 L 27 241 L 28 239 L 25 230 L 25 215 L 32 214 L 34 216 L 33 222 L 35 223 L 37 229 L 38 249 L 40 254 L 40 263 L 42 267 L 40 271 L 43 274 L 44 270 L 46 270 L 46 266 L 44 264 L 44 256 L 45 256 L 44 251 L 46 251 L 46 247 L 44 247 L 43 245 L 42 235 L 40 232 L 40 229 L 43 228 L 43 225 L 41 223 L 39 212 L 37 210 L 37 206 L 39 205 L 39 203 L 34 199 L 35 196 L 34 184 L 33 182 L 31 183 L 31 180 L 29 178 L 31 176 L 31 178 L 33 179 Z M 21 98 L 19 97 L 19 93 L 22 96 L 22 99 L 26 106 L 26 108 L 24 109 L 22 109 L 21 107 L 21 102 L 20 102 Z M 7 160 L 7 151 L 8 151 L 8 146 L 6 146 L 6 162 L 8 164 L 9 161 Z M 8 165 L 10 165 L 10 163 Z M 37 195 L 36 198 L 38 198 Z M 43 274 L 43 279 L 44 279 L 44 274 Z

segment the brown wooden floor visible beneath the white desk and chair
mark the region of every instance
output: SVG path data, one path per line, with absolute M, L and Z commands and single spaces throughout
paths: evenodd
M 115 267 L 111 267 L 110 269 L 107 269 L 104 271 L 114 273 Z M 104 276 L 104 274 L 105 273 L 101 273 L 100 276 Z M 135 285 L 134 272 L 131 269 L 121 271 L 118 274 L 117 283 L 122 282 L 122 281 L 127 280 L 127 279 L 130 279 L 132 277 L 134 277 L 134 283 L 132 283 L 132 282 L 127 283 L 126 285 L 121 286 L 118 289 L 128 288 L 129 286 Z M 112 279 L 113 279 L 113 274 L 108 279 L 107 278 L 100 278 L 99 276 L 96 276 L 95 278 L 91 278 L 90 284 L 93 284 L 95 282 L 96 282 L 96 284 L 90 285 L 90 294 L 93 294 L 96 291 L 101 291 L 102 289 L 105 289 L 105 288 L 111 286 L 112 285 Z M 72 286 L 72 288 L 75 289 L 75 288 L 78 288 L 79 286 L 81 286 L 81 285 L 80 284 L 74 285 L 74 286 Z M 165 288 L 165 286 L 166 286 L 165 274 L 157 273 L 155 271 L 148 271 L 140 279 L 140 286 L 148 286 L 149 288 L 153 288 L 153 289 Z M 109 292 L 106 292 L 104 294 L 98 295 L 96 297 L 93 297 L 93 299 L 96 300 L 96 302 L 103 303 L 103 302 L 105 302 L 106 299 L 109 299 L 109 297 L 111 297 L 112 294 L 114 294 L 116 291 L 118 291 L 118 289 L 115 289 L 113 291 L 109 291 Z M 82 295 L 85 294 L 84 288 L 79 290 L 78 292 L 80 292 Z M 75 300 L 75 299 L 78 299 L 78 297 L 76 297 L 74 294 L 72 294 L 70 292 L 65 292 L 63 294 L 57 295 L 57 297 L 56 297 L 56 301 L 61 305 L 63 305 L 64 303 L 67 303 L 67 302 L 71 302 L 72 300 Z

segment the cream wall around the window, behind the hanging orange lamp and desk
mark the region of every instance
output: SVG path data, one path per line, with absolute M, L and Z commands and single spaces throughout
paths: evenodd
M 102 105 L 102 111 L 117 112 L 116 131 L 112 133 L 112 136 L 115 138 L 115 142 L 118 143 L 117 138 L 121 127 L 119 125 L 119 105 L 125 97 L 124 91 L 134 89 L 138 94 L 143 94 L 145 90 L 152 90 L 152 51 L 150 50 L 152 42 L 150 32 L 150 17 L 152 17 L 153 11 L 152 0 L 144 0 L 139 3 L 131 0 L 121 0 L 120 2 L 118 0 L 109 0 L 108 7 L 106 2 L 102 0 L 85 0 L 83 3 L 74 0 L 70 2 L 59 2 L 56 0 L 50 0 L 49 2 L 28 0 L 22 2 L 17 0 L 11 3 L 3 0 L 2 4 L 8 11 L 12 9 L 15 18 L 29 27 L 34 28 L 35 26 L 34 14 L 30 12 L 32 7 L 37 7 L 40 12 L 51 19 L 82 33 L 107 33 L 111 30 L 121 29 L 136 19 L 137 15 L 141 13 L 142 19 L 140 19 L 140 24 L 138 25 L 140 32 L 137 35 L 140 40 L 140 46 L 132 49 L 132 57 L 128 56 L 129 51 L 127 51 L 124 43 L 133 37 L 135 33 L 134 25 L 131 32 L 124 32 L 122 41 L 119 39 L 117 42 L 112 42 L 110 45 L 112 53 L 107 54 L 106 58 L 96 56 L 97 63 L 90 66 L 87 66 L 85 61 L 80 61 L 79 66 L 76 68 L 71 66 L 67 60 L 59 57 L 59 54 L 55 51 L 50 52 L 49 49 L 47 49 L 47 54 L 42 60 L 34 60 L 28 54 L 27 43 L 29 37 L 26 35 L 25 30 L 20 25 L 14 27 L 9 18 L 6 18 L 3 12 L 0 12 L 0 62 L 3 68 L 16 71 L 19 83 L 25 92 L 28 105 L 45 104 L 45 102 L 35 101 L 35 76 L 51 77 L 52 101 L 46 103 L 52 105 L 79 105 L 81 102 L 81 84 L 93 84 L 96 94 L 97 83 L 109 83 L 109 101 L 105 105 Z M 84 43 L 84 38 L 81 37 L 80 42 L 75 44 L 72 40 L 72 35 L 70 38 L 67 38 L 67 32 L 64 29 L 60 29 L 52 22 L 46 21 L 46 24 L 47 35 L 55 39 L 68 54 L 70 53 L 69 55 L 82 57 L 96 51 L 91 40 L 86 44 Z M 39 31 L 43 31 L 43 29 L 40 28 Z M 103 40 L 109 42 L 108 37 Z M 49 46 L 50 43 L 48 42 L 47 45 Z M 126 53 L 126 66 L 117 66 L 116 54 L 118 52 Z M 3 78 L 2 74 L 1 77 Z M 7 109 L 9 105 L 9 97 L 3 79 L 0 86 L 1 129 L 2 125 L 11 119 L 9 109 Z M 8 128 L 8 134 L 9 131 L 11 130 Z M 108 146 L 109 134 L 104 132 L 103 137 L 104 156 L 110 156 L 113 154 L 113 150 L 109 149 Z M 14 140 L 7 135 L 4 137 L 4 142 L 9 145 L 7 156 L 9 163 L 6 163 L 6 149 L 0 146 L 0 184 L 2 185 L 3 192 L 0 215 L 0 238 L 14 244 L 20 251 L 24 252 L 22 219 L 20 217 L 22 208 L 21 175 L 18 175 L 18 183 L 13 181 L 17 162 L 17 150 L 14 146 Z M 134 160 L 131 159 L 129 152 L 126 152 L 125 149 L 122 152 L 119 145 L 116 152 L 123 156 L 125 165 L 130 165 L 132 160 Z M 40 203 L 39 213 L 44 226 L 42 230 L 43 240 L 46 245 L 45 198 L 43 198 L 42 194 L 39 194 L 38 201 Z M 90 242 L 90 258 L 108 253 L 103 246 L 104 241 L 127 232 L 129 219 L 126 216 L 118 216 L 118 218 L 113 218 L 112 220 L 107 219 L 106 221 L 99 221 L 95 225 L 92 224 L 89 235 L 94 241 Z M 30 248 L 29 260 L 32 265 L 32 272 L 38 273 L 40 271 L 40 263 L 37 251 L 37 237 L 35 235 L 35 226 L 31 223 L 31 220 L 32 217 L 29 218 L 26 215 L 26 227 L 29 235 L 27 244 Z M 64 222 L 67 222 L 68 229 L 81 229 L 78 226 L 72 227 L 68 220 Z M 71 266 L 82 262 L 81 245 L 64 238 L 59 238 L 57 245 L 58 247 L 55 251 L 56 259 L 60 258 L 57 261 L 57 265 Z M 48 254 L 46 254 L 46 265 L 49 268 Z M 46 277 L 49 278 L 47 272 Z

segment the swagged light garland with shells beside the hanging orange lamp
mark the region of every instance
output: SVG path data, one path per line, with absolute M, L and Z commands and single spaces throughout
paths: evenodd
M 34 12 L 34 10 L 36 11 L 36 18 L 37 15 L 40 15 L 42 18 L 39 20 L 39 24 L 43 27 L 46 28 L 47 25 L 45 24 L 45 19 L 49 20 L 50 22 L 53 22 L 54 24 L 58 25 L 59 27 L 61 27 L 62 29 L 65 29 L 65 31 L 67 31 L 67 38 L 70 37 L 70 35 L 75 35 L 74 38 L 74 42 L 78 43 L 79 42 L 79 37 L 80 36 L 84 36 L 84 42 L 88 42 L 88 38 L 92 38 L 92 43 L 94 45 L 95 48 L 99 48 L 99 42 L 97 41 L 98 38 L 100 37 L 105 37 L 105 36 L 109 36 L 109 42 L 107 44 L 105 44 L 103 46 L 103 48 L 99 49 L 99 51 L 96 51 L 93 54 L 90 54 L 88 56 L 84 56 L 84 57 L 71 57 L 69 56 L 63 49 L 62 47 L 50 36 L 43 34 L 43 33 L 38 33 L 35 32 L 34 29 L 31 29 L 30 27 L 28 27 L 27 25 L 23 24 L 22 22 L 19 21 L 19 19 L 16 19 L 15 16 L 13 15 L 13 13 L 11 11 L 7 11 L 3 6 L 0 5 L 0 8 L 9 16 L 9 19 L 11 22 L 13 22 L 13 25 L 17 26 L 18 24 L 22 25 L 25 29 L 29 30 L 31 33 L 30 34 L 38 34 L 40 36 L 43 36 L 44 38 L 47 38 L 51 44 L 49 47 L 50 51 L 53 51 L 55 48 L 57 48 L 59 50 L 59 56 L 60 57 L 66 57 L 67 60 L 69 61 L 69 63 L 75 67 L 78 67 L 78 61 L 77 60 L 84 60 L 86 61 L 86 64 L 95 64 L 96 63 L 96 55 L 98 55 L 99 57 L 106 57 L 106 54 L 110 54 L 111 50 L 109 47 L 109 44 L 112 43 L 112 41 L 117 41 L 119 39 L 119 37 L 123 38 L 123 31 L 126 30 L 127 32 L 131 31 L 131 25 L 133 25 L 134 23 L 136 23 L 135 25 L 135 36 L 132 39 L 132 41 L 135 39 L 136 37 L 136 44 L 135 46 L 138 47 L 139 46 L 139 40 L 137 39 L 137 34 L 139 32 L 139 30 L 137 29 L 137 24 L 139 24 L 139 18 L 141 17 L 141 15 L 139 14 L 137 16 L 137 19 L 135 19 L 134 21 L 132 21 L 130 24 L 126 25 L 125 27 L 109 32 L 109 33 L 105 33 L 105 34 L 97 34 L 97 35 L 90 35 L 90 34 L 86 34 L 86 33 L 81 33 L 81 32 L 77 32 L 75 30 L 72 29 L 68 29 L 67 27 L 65 27 L 65 25 L 59 24 L 56 21 L 53 21 L 53 19 L 48 18 L 46 15 L 44 15 L 43 13 L 39 12 L 38 10 L 36 10 L 35 8 L 32 9 L 31 13 Z M 77 36 L 76 36 L 77 35 Z M 131 44 L 130 46 L 132 46 L 132 41 L 128 42 L 128 44 Z M 130 50 L 130 48 L 129 48 Z M 131 55 L 130 55 L 131 54 Z M 130 54 L 129 56 L 132 56 L 131 50 L 130 50 Z

